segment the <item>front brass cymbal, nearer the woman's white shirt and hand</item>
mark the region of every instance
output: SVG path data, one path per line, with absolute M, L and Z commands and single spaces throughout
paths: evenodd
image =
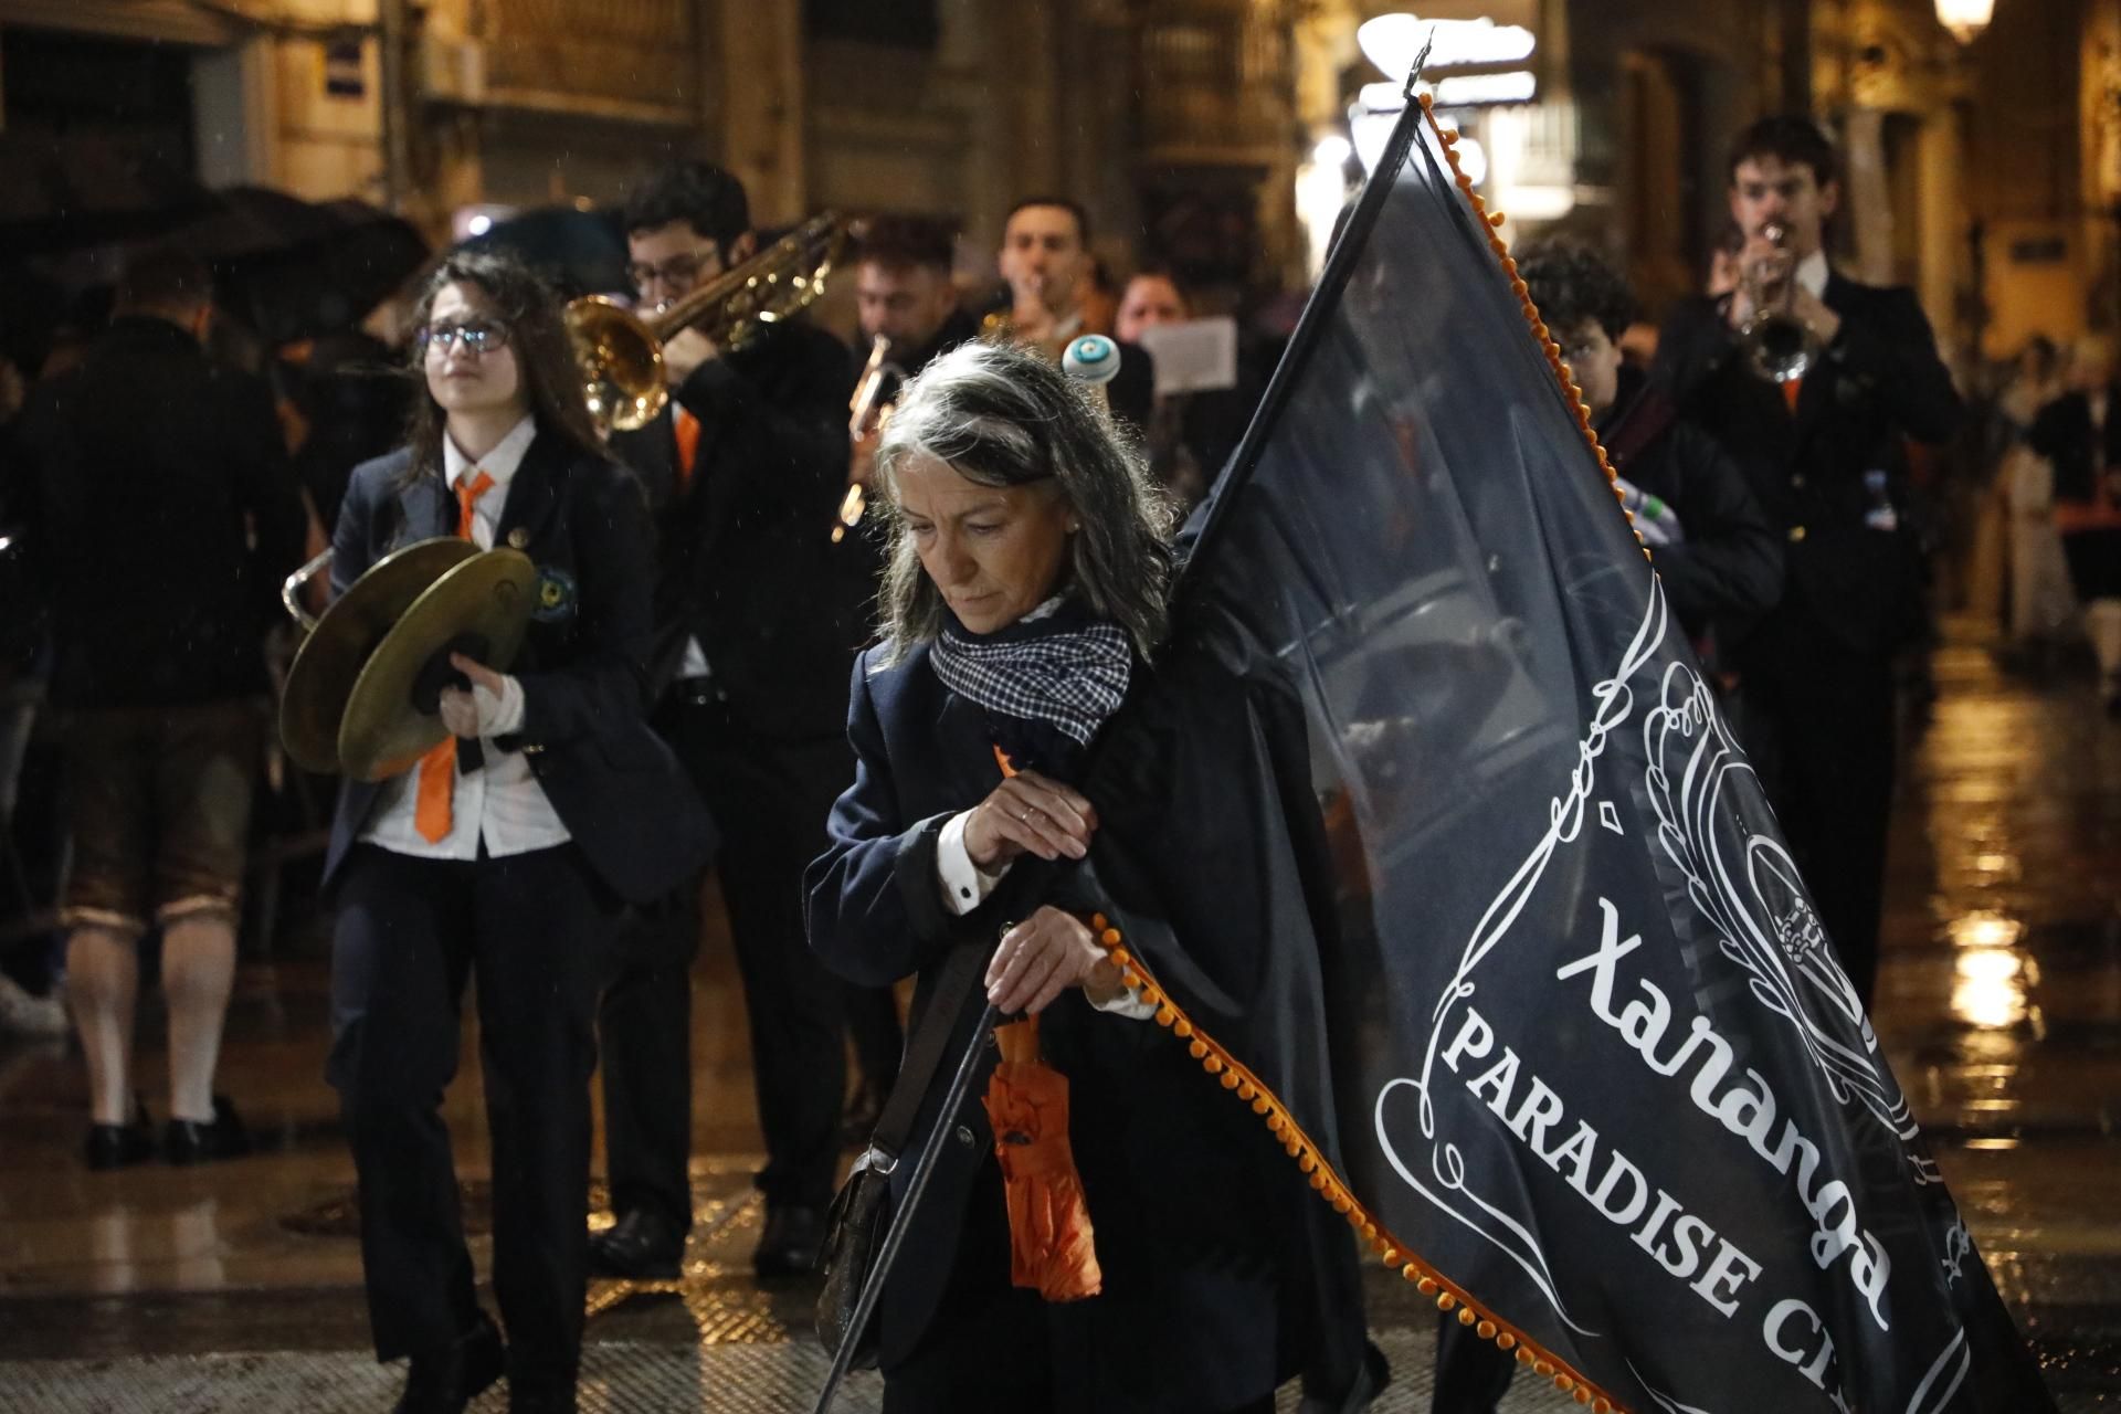
M 454 647 L 507 672 L 530 628 L 537 566 L 520 549 L 464 560 L 411 602 L 363 664 L 339 721 L 339 767 L 354 780 L 407 772 L 445 736 L 433 704 L 416 697 L 445 672 Z

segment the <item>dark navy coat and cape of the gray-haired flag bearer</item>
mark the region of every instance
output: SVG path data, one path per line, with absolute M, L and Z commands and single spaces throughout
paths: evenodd
M 1130 753 L 1103 753 L 1077 784 L 1099 812 L 1094 856 L 1107 867 L 1137 861 L 1181 897 L 1175 926 L 1196 954 L 1181 960 L 1167 952 L 1171 975 L 1162 982 L 1188 992 L 1203 1024 L 1215 1018 L 1220 1028 L 1228 1015 L 1232 1045 L 1243 1045 L 1243 1018 L 1213 998 L 1243 1007 L 1258 986 L 1279 990 L 1279 977 L 1260 950 L 1262 933 L 1275 926 L 1264 880 L 1245 850 L 1226 852 L 1260 814 L 1220 780 L 1224 770 L 1245 778 L 1254 763 L 1239 742 L 1249 721 L 1243 693 L 1224 691 L 1234 687 L 1217 678 L 1173 689 L 1137 664 L 1122 714 L 1158 725 L 1150 755 L 1167 765 L 1167 708 L 1186 719 L 1188 733 L 1205 731 L 1205 757 L 1186 753 L 1177 767 L 1198 789 L 1164 789 L 1177 784 L 1171 780 L 1133 789 L 1139 772 L 1105 770 L 1126 765 Z M 1196 708 L 1217 693 L 1226 710 L 1209 708 L 1215 721 L 1207 723 Z M 857 984 L 916 975 L 916 1028 L 952 945 L 991 948 L 1039 905 L 1075 914 L 1105 905 L 1094 871 L 1027 856 L 971 914 L 944 907 L 935 878 L 942 827 L 999 784 L 995 744 L 1016 740 L 1016 731 L 946 689 L 927 647 L 889 668 L 872 649 L 855 666 L 848 736 L 857 774 L 834 808 L 831 848 L 804 880 L 810 948 Z M 1220 812 L 1224 801 L 1230 810 Z M 969 1022 L 959 1018 L 965 1039 Z M 1111 1369 L 1099 1363 L 1099 1374 L 1118 1378 L 1130 1397 L 1160 1399 L 1156 1408 L 1232 1408 L 1298 1372 L 1307 1386 L 1343 1389 L 1362 1350 L 1355 1251 L 1347 1223 L 1311 1194 L 1264 1121 L 1205 1075 L 1171 1030 L 1094 1011 L 1077 990 L 1041 1015 L 1039 1041 L 1069 1077 L 1069 1138 L 1105 1270 L 1105 1293 L 1056 1308 L 1056 1321 L 1092 1348 L 1128 1350 Z M 944 1054 L 961 1051 L 959 1041 Z M 940 1119 L 946 1079 L 929 1092 L 912 1153 Z M 1003 1223 L 978 1090 L 952 1126 L 880 1308 L 887 1372 L 927 1333 L 961 1253 L 984 1259 L 995 1251 L 982 1225 Z M 901 1162 L 895 1185 L 910 1170 L 912 1162 Z M 1226 1344 L 1232 1333 L 1239 1348 Z

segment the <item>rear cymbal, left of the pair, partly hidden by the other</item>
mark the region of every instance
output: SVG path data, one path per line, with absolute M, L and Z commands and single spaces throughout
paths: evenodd
M 280 740 L 310 772 L 339 772 L 339 721 L 361 666 L 411 602 L 479 547 L 445 536 L 390 551 L 331 602 L 295 651 L 280 695 Z

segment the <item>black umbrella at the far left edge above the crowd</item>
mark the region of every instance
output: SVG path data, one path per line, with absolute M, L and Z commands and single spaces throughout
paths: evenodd
M 95 134 L 0 134 L 0 259 L 161 235 L 214 195 L 189 172 Z

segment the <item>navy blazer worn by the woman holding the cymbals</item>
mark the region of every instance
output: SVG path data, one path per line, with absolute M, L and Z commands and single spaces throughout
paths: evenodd
M 331 538 L 335 594 L 392 549 L 456 532 L 441 475 L 405 483 L 409 462 L 411 449 L 401 447 L 354 469 Z M 541 570 L 568 575 L 577 598 L 571 613 L 530 623 L 509 668 L 524 687 L 524 725 L 496 746 L 524 753 L 596 876 L 621 899 L 651 903 L 706 863 L 715 835 L 645 717 L 655 551 L 641 483 L 617 462 L 539 432 L 494 536 L 496 545 L 518 541 Z M 327 884 L 378 793 L 358 780 L 341 789 Z

